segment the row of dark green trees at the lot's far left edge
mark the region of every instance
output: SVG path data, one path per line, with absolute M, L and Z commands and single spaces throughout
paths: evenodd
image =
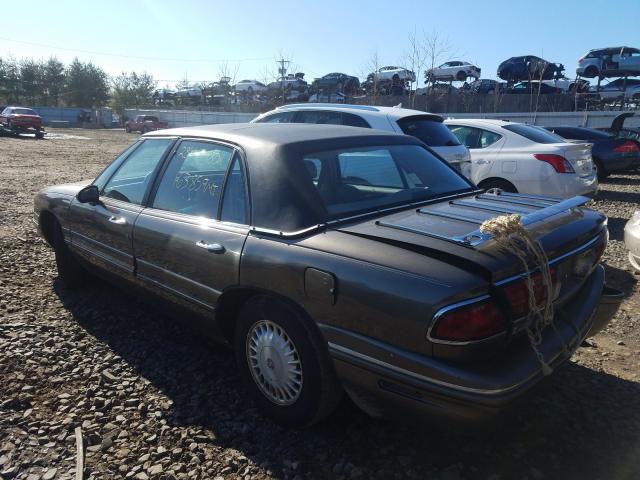
M 125 106 L 148 103 L 156 82 L 147 73 L 111 77 L 77 58 L 65 65 L 57 58 L 0 57 L 0 105 L 98 108 L 122 113 Z

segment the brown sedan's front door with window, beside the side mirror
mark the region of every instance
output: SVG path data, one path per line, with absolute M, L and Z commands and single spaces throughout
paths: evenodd
M 71 249 L 117 275 L 134 271 L 132 233 L 142 202 L 173 139 L 146 139 L 117 159 L 95 185 L 97 204 L 71 203 Z

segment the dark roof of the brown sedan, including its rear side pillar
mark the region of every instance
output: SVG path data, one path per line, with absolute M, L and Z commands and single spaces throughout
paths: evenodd
M 349 148 L 424 144 L 415 137 L 343 125 L 232 123 L 175 128 L 143 137 L 197 137 L 242 147 L 251 183 L 251 222 L 255 227 L 296 232 L 326 220 L 326 211 L 310 189 L 300 159 L 307 153 Z

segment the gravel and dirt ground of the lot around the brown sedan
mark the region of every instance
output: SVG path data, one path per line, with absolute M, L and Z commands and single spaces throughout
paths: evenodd
M 609 216 L 605 259 L 628 294 L 622 309 L 508 424 L 399 425 L 345 403 L 287 431 L 247 400 L 227 350 L 104 283 L 71 292 L 56 281 L 33 195 L 93 177 L 134 136 L 52 133 L 0 138 L 2 479 L 74 478 L 78 426 L 84 478 L 640 478 L 639 277 L 621 241 L 640 175 L 611 177 L 594 205 Z

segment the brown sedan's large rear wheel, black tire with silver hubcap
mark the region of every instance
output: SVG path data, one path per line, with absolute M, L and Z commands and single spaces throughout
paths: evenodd
M 338 405 L 342 389 L 326 344 L 294 307 L 253 297 L 240 312 L 234 348 L 247 390 L 278 423 L 312 425 Z

